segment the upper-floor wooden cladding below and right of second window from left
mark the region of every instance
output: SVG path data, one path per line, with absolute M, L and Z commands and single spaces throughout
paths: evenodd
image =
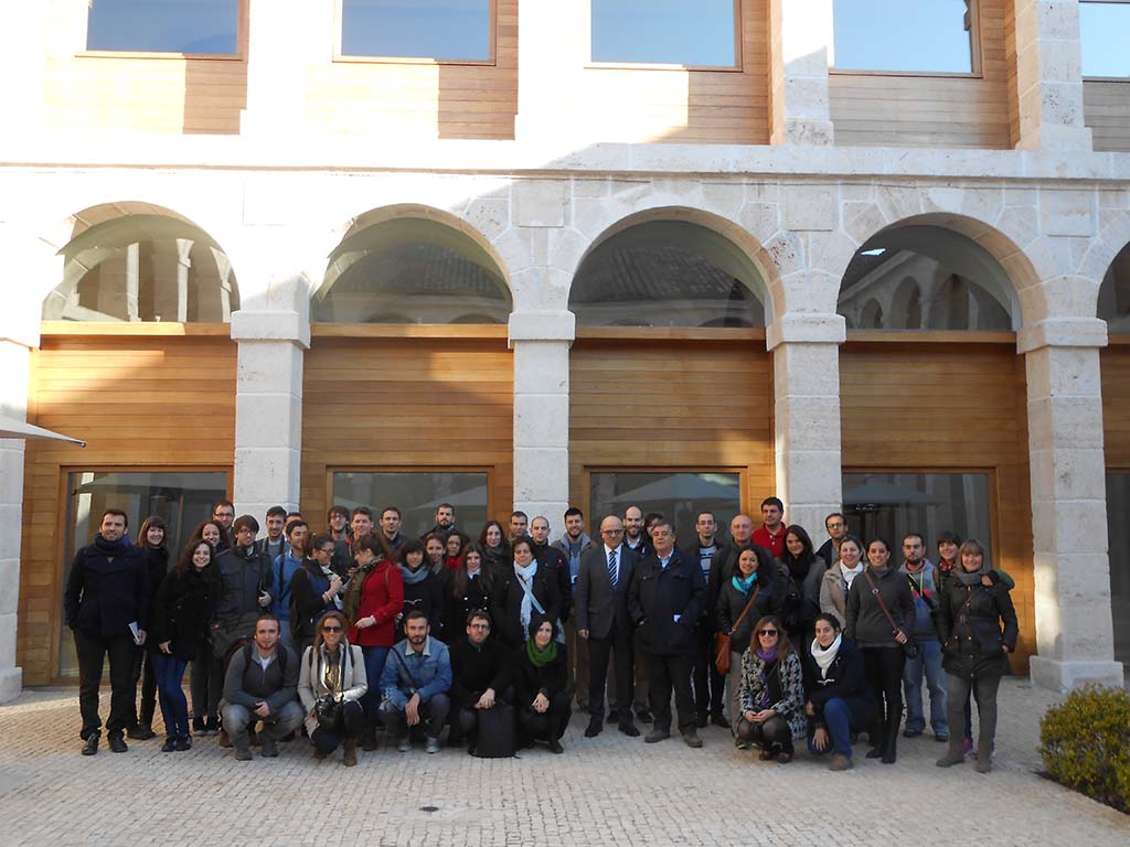
M 320 132 L 514 138 L 518 0 L 497 0 L 493 66 L 330 61 L 311 64 L 306 117 Z

